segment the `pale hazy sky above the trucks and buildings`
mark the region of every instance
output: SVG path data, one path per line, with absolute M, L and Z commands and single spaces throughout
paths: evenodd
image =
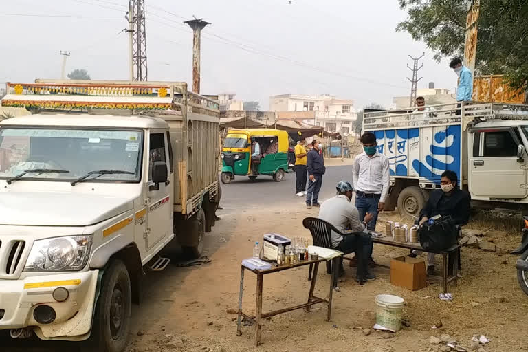
M 233 92 L 259 100 L 272 94 L 331 93 L 356 108 L 408 96 L 411 63 L 423 58 L 419 88 L 434 81 L 454 91 L 447 62 L 424 43 L 395 32 L 406 17 L 397 0 L 146 0 L 149 80 L 192 83 L 192 16 L 212 25 L 202 32 L 201 92 Z M 0 82 L 60 78 L 87 69 L 92 79 L 128 79 L 126 0 L 0 0 Z M 5 14 L 16 14 L 6 16 Z M 38 15 L 38 16 L 21 16 Z M 55 15 L 55 17 L 50 17 Z M 60 16 L 93 16 L 76 18 Z

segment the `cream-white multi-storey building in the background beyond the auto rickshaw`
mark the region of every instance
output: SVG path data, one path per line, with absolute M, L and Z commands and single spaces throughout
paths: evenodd
M 321 126 L 328 132 L 342 135 L 354 133 L 355 111 L 353 100 L 337 99 L 331 94 L 281 94 L 270 96 L 270 111 L 278 120 L 295 120 Z

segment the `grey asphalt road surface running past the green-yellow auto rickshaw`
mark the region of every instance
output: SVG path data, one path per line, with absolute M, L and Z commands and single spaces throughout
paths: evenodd
M 352 166 L 329 166 L 322 178 L 319 201 L 335 195 L 336 184 L 342 180 L 352 183 Z M 305 201 L 305 198 L 295 196 L 295 173 L 287 174 L 282 182 L 275 182 L 270 176 L 259 177 L 255 181 L 239 176 L 221 187 L 221 206 L 225 214 L 241 208 L 258 209 L 276 203 L 291 202 L 293 205 Z

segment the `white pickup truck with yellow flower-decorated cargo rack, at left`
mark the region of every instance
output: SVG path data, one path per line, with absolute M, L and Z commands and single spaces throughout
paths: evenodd
M 199 256 L 219 201 L 218 103 L 185 83 L 8 83 L 0 122 L 0 330 L 122 351 L 175 234 Z

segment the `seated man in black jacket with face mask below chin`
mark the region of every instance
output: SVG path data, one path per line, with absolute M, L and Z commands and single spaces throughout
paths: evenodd
M 431 192 L 426 205 L 420 212 L 419 224 L 422 225 L 436 215 L 450 215 L 456 225 L 465 225 L 470 220 L 471 196 L 458 186 L 454 171 L 445 171 L 441 178 L 441 190 Z M 412 251 L 411 256 L 420 254 Z M 434 254 L 428 254 L 428 275 L 434 274 Z

